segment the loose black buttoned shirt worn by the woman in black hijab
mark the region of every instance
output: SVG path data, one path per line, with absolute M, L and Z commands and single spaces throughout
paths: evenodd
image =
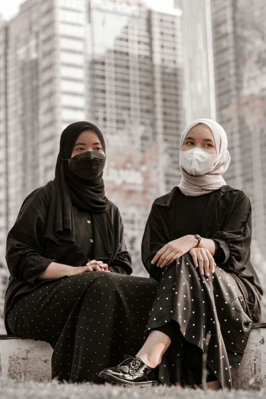
M 52 261 L 71 266 L 84 266 L 88 258 L 103 260 L 98 257 L 98 247 L 103 243 L 94 242 L 96 226 L 91 213 L 73 204 L 72 207 L 76 240 L 75 243 L 66 241 L 66 244 L 62 245 L 45 237 L 49 185 L 38 188 L 23 202 L 17 220 L 7 236 L 6 260 L 10 278 L 5 296 L 5 314 L 15 295 L 29 292 L 41 283 L 37 277 Z M 121 216 L 112 201 L 109 201 L 108 212 L 115 234 L 112 254 L 105 259 L 105 262 L 108 263 L 109 270 L 112 272 L 131 274 L 131 257 L 123 238 Z

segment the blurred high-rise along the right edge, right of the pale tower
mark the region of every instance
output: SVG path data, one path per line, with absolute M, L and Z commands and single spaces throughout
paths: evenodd
M 252 204 L 252 237 L 266 257 L 266 7 L 264 0 L 211 0 L 217 121 L 231 164 L 227 184 Z

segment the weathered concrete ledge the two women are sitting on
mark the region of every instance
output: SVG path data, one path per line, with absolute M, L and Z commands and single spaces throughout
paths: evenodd
M 266 387 L 266 323 L 252 325 L 249 341 L 234 388 L 261 389 Z M 2 378 L 50 381 L 53 349 L 44 341 L 0 335 Z

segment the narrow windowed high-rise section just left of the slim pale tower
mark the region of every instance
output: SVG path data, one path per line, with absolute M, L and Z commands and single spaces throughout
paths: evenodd
M 152 11 L 150 39 L 154 79 L 154 131 L 159 147 L 158 194 L 181 179 L 178 152 L 184 129 L 182 14 Z M 163 185 L 164 184 L 164 185 Z M 161 187 L 161 189 L 160 189 Z

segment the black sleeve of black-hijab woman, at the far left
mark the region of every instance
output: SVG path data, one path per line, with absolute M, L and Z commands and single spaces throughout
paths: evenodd
M 22 203 L 14 226 L 7 236 L 6 261 L 11 277 L 35 284 L 51 262 L 42 255 L 48 211 L 45 187 L 33 191 Z

